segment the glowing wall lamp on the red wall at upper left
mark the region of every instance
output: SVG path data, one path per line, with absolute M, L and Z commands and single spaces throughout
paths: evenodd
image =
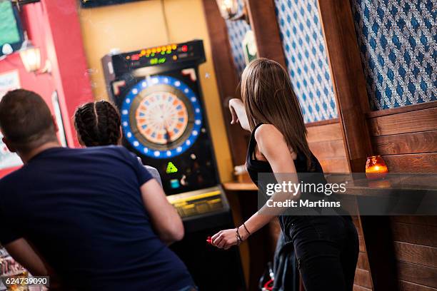
M 34 46 L 27 37 L 24 39 L 19 53 L 24 68 L 26 68 L 26 71 L 29 73 L 51 73 L 51 62 L 46 60 L 44 68 L 41 68 L 41 51 Z

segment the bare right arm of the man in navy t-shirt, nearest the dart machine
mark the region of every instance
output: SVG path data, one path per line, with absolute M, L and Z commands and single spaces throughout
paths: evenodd
M 141 196 L 152 226 L 163 242 L 171 243 L 184 238 L 181 217 L 155 179 L 150 179 L 141 186 Z

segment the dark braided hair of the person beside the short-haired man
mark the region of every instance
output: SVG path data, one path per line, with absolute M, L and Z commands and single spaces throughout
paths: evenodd
M 108 101 L 86 103 L 74 113 L 74 127 L 82 146 L 117 145 L 120 126 L 120 113 Z

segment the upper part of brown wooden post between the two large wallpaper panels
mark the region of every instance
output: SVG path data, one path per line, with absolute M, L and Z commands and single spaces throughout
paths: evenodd
M 363 173 L 372 153 L 364 115 L 370 109 L 351 6 L 335 0 L 318 1 L 318 6 L 351 171 Z

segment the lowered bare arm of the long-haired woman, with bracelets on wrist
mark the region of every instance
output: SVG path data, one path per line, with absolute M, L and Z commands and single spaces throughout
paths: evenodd
M 256 129 L 255 139 L 259 151 L 264 157 L 266 157 L 268 163 L 270 163 L 277 182 L 288 183 L 289 180 L 292 180 L 291 183 L 298 183 L 296 175 L 286 175 L 286 177 L 284 177 L 284 175 L 276 175 L 278 173 L 296 174 L 293 155 L 288 148 L 282 133 L 270 124 L 263 124 Z M 292 178 L 290 178 L 290 176 Z M 289 195 L 289 193 L 276 193 L 271 199 L 285 200 L 290 198 Z M 298 195 L 295 195 L 293 198 L 298 198 Z M 281 214 L 279 212 L 275 213 L 276 210 L 267 209 L 267 206 L 264 205 L 261 210 L 258 210 L 257 213 L 253 214 L 251 218 L 246 220 L 244 223 L 245 227 L 238 227 L 238 233 L 242 240 L 246 240 L 249 235 L 255 233 L 277 215 Z M 237 244 L 236 229 L 221 230 L 212 237 L 212 242 L 216 247 L 227 250 L 232 245 Z

